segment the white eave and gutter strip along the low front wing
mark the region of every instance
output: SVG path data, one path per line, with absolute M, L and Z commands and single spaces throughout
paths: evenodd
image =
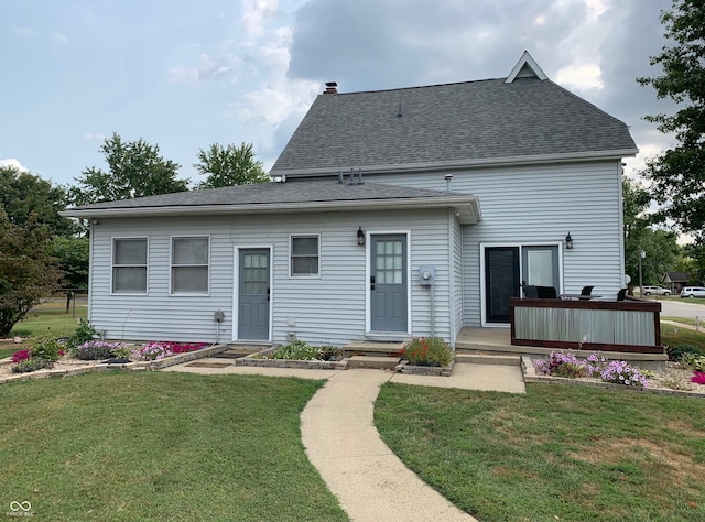
M 284 214 L 345 210 L 379 210 L 408 208 L 454 208 L 456 217 L 463 225 L 480 221 L 479 198 L 470 195 L 449 195 L 448 197 L 410 197 L 387 199 L 354 199 L 335 202 L 304 203 L 268 203 L 268 204 L 226 204 L 226 205 L 169 205 L 160 207 L 104 207 L 66 209 L 59 214 L 64 217 L 83 219 L 155 217 L 155 216 L 194 216 L 223 214 Z

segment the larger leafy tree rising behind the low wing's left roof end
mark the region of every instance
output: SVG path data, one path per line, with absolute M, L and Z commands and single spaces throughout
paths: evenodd
M 177 180 L 178 163 L 164 160 L 159 146 L 144 140 L 123 142 L 113 133 L 106 138 L 100 152 L 105 154 L 108 171 L 95 166 L 86 168 L 76 178 L 79 187 L 70 189 L 75 205 L 116 202 L 131 197 L 155 196 L 188 189 L 187 180 Z

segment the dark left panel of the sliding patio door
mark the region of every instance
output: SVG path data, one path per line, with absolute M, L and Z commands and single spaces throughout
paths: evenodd
M 485 317 L 509 323 L 509 298 L 519 297 L 519 247 L 485 249 Z

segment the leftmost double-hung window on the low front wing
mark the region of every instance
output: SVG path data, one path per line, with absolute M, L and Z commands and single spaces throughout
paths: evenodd
M 112 292 L 147 293 L 147 238 L 112 240 Z

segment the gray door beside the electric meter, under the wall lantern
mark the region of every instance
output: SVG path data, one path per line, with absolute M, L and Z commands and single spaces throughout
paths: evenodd
M 406 236 L 371 236 L 372 331 L 406 331 Z

